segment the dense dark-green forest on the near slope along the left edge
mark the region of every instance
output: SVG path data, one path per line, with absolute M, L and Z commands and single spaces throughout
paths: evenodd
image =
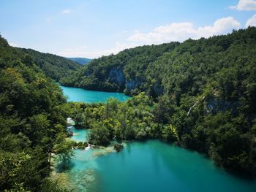
M 67 103 L 37 63 L 55 58 L 10 47 L 0 37 L 0 191 L 60 191 L 48 179 L 49 161 L 53 152 L 72 155 L 65 139 Z

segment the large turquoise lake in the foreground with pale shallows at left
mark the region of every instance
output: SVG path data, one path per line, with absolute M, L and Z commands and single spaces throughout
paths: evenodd
M 158 140 L 129 142 L 120 153 L 113 147 L 75 150 L 65 172 L 74 191 L 256 191 L 255 181 L 235 177 L 199 153 Z

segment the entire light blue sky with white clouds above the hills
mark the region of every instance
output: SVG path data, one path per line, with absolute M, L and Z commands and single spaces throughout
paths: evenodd
M 98 58 L 256 26 L 256 0 L 1 0 L 10 45 Z

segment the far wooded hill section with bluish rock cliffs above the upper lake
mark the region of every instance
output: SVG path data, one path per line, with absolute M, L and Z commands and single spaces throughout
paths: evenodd
M 124 50 L 117 55 L 92 60 L 83 70 L 61 79 L 62 85 L 101 91 L 129 91 L 140 88 L 146 80 L 146 69 L 178 42 Z

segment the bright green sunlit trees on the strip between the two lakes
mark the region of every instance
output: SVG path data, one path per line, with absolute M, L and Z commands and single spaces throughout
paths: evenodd
M 91 128 L 90 142 L 108 145 L 112 139 L 155 138 L 153 106 L 149 104 L 152 105 L 153 101 L 145 93 L 140 93 L 125 103 L 108 99 L 106 104 L 71 103 L 70 106 L 74 116 L 78 111 L 83 115 L 81 123 L 89 125 L 84 128 Z

